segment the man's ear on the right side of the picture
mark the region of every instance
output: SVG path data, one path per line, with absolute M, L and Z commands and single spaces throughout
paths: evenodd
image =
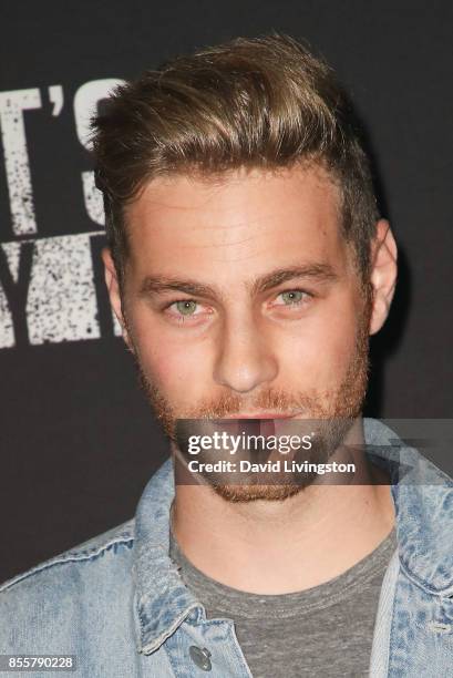
M 370 319 L 370 335 L 375 335 L 389 315 L 390 305 L 397 286 L 398 249 L 390 224 L 380 219 L 375 237 L 371 244 L 371 285 L 373 287 L 373 308 Z

